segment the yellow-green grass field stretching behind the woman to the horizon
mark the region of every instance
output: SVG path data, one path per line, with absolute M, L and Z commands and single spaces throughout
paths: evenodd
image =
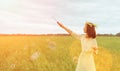
M 97 41 L 97 71 L 120 71 L 120 37 Z M 0 36 L 0 71 L 75 71 L 80 52 L 71 36 Z

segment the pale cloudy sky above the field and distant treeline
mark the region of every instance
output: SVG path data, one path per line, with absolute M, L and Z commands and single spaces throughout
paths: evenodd
M 120 32 L 120 0 L 0 0 L 0 33 L 67 33 L 57 19 L 72 31 L 83 33 L 86 21 L 101 34 Z

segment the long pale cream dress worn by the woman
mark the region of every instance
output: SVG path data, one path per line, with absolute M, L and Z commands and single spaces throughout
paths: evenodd
M 93 47 L 97 48 L 96 39 L 86 38 L 85 36 L 78 36 L 73 33 L 73 36 L 81 40 L 82 52 L 80 53 L 77 67 L 75 71 L 96 71 Z

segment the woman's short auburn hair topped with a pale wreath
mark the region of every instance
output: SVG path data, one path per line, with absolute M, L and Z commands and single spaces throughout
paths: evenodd
M 93 23 L 88 22 L 86 23 L 86 33 L 88 35 L 89 38 L 96 38 L 96 30 L 95 30 L 95 26 Z

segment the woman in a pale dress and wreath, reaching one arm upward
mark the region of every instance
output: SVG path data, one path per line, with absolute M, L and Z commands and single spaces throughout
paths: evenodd
M 97 54 L 97 42 L 95 25 L 91 22 L 86 22 L 84 26 L 85 35 L 77 35 L 60 22 L 57 24 L 66 30 L 69 34 L 81 41 L 82 52 L 79 56 L 75 71 L 96 71 L 93 54 Z

